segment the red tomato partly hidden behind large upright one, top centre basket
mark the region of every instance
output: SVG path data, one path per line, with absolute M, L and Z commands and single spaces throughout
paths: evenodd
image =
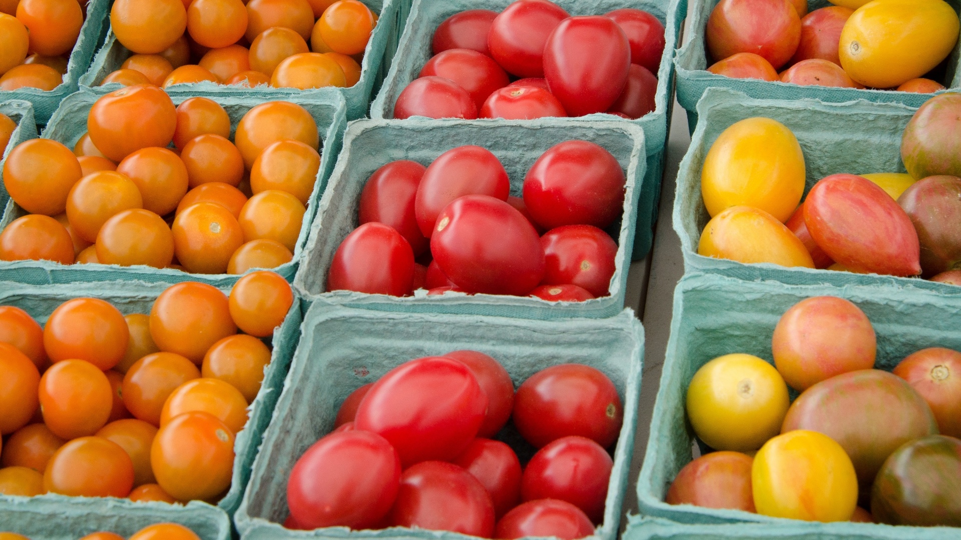
M 571 15 L 548 0 L 517 0 L 497 15 L 487 35 L 490 55 L 518 77 L 544 76 L 544 45 Z

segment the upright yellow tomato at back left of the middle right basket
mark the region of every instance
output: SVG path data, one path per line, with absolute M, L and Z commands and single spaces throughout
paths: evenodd
M 746 206 L 784 223 L 804 194 L 804 154 L 797 137 L 771 118 L 730 126 L 704 158 L 701 194 L 711 217 Z

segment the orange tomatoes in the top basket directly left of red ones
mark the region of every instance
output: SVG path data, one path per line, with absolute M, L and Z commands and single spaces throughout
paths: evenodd
M 111 29 L 135 54 L 101 84 L 354 86 L 377 19 L 358 0 L 119 0 Z

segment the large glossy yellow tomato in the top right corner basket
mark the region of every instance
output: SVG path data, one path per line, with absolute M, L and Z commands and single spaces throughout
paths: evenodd
M 841 67 L 864 86 L 900 86 L 948 58 L 959 27 L 944 0 L 874 0 L 841 31 Z

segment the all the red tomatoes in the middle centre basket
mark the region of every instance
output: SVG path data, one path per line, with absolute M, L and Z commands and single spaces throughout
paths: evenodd
M 327 288 L 606 296 L 617 244 L 604 229 L 621 215 L 625 183 L 620 163 L 583 140 L 534 162 L 523 198 L 510 196 L 504 166 L 480 146 L 457 147 L 429 167 L 387 163 L 360 194 L 360 226 L 337 248 Z

